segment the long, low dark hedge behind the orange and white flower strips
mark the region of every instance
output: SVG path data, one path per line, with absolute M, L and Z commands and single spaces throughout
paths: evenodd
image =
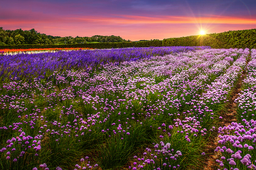
M 142 42 L 123 42 L 123 43 L 85 43 L 85 44 L 63 44 L 63 45 L 0 45 L 0 49 L 43 49 L 43 48 L 94 48 L 111 49 L 124 47 L 162 47 L 160 40 L 142 41 Z

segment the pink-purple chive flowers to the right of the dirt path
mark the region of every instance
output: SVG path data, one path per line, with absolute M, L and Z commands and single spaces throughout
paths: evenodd
M 235 102 L 238 104 L 237 121 L 219 127 L 220 158 L 216 160 L 221 170 L 256 169 L 256 117 L 255 117 L 255 70 L 256 50 L 252 49 L 246 66 L 247 74 Z

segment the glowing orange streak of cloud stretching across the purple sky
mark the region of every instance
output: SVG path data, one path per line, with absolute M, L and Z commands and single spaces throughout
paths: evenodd
M 228 16 L 208 16 L 208 17 L 187 17 L 187 16 L 132 16 L 132 15 L 121 15 L 114 17 L 97 17 L 97 16 L 72 16 L 63 18 L 54 18 L 54 20 L 0 20 L 2 25 L 9 25 L 12 23 L 53 23 L 58 21 L 59 23 L 101 23 L 101 24 L 159 24 L 159 23 L 207 23 L 207 24 L 256 24 L 255 18 L 239 18 L 239 17 L 228 17 Z

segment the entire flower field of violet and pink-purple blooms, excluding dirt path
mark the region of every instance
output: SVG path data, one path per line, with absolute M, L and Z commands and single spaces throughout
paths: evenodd
M 212 154 L 215 169 L 256 169 L 256 49 L 0 57 L 3 170 L 200 170 Z M 235 121 L 222 124 L 239 81 Z

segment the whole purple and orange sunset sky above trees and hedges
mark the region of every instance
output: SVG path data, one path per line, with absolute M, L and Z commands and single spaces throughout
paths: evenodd
M 256 0 L 0 0 L 0 27 L 138 41 L 256 29 Z

